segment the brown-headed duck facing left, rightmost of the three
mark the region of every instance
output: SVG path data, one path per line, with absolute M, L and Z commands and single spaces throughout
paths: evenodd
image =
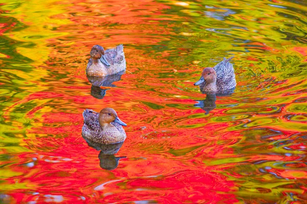
M 214 67 L 205 67 L 202 77 L 194 86 L 199 85 L 203 93 L 225 93 L 232 92 L 235 89 L 235 73 L 230 60 L 224 58 L 223 61 Z

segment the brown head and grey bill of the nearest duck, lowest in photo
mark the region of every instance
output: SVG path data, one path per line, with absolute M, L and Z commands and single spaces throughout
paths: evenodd
M 117 113 L 114 109 L 112 108 L 104 108 L 100 111 L 99 113 L 99 124 L 100 126 L 103 128 L 105 125 L 111 123 L 111 122 L 116 122 L 120 125 L 123 126 L 127 126 L 126 123 L 124 123 L 123 121 L 121 121 L 118 116 Z

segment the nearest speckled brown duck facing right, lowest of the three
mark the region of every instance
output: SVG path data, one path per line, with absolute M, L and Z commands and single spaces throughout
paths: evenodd
M 86 109 L 82 115 L 84 118 L 82 136 L 84 138 L 100 144 L 114 144 L 126 139 L 122 125 L 127 125 L 118 118 L 114 109 L 104 108 L 99 114 Z

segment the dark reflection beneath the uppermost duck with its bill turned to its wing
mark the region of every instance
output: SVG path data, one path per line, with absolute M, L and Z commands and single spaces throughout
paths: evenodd
M 89 82 L 92 84 L 91 88 L 91 95 L 95 98 L 102 99 L 105 94 L 106 90 L 105 88 L 100 87 L 116 87 L 113 82 L 117 82 L 121 80 L 121 76 L 125 73 L 125 70 L 120 71 L 116 74 L 106 75 L 105 77 L 93 77 L 86 75 Z

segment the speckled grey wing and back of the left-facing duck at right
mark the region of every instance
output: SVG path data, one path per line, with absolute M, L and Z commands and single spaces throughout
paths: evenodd
M 224 58 L 222 62 L 213 67 L 216 72 L 216 86 L 218 90 L 229 90 L 236 86 L 233 65 L 230 63 L 232 58 Z

